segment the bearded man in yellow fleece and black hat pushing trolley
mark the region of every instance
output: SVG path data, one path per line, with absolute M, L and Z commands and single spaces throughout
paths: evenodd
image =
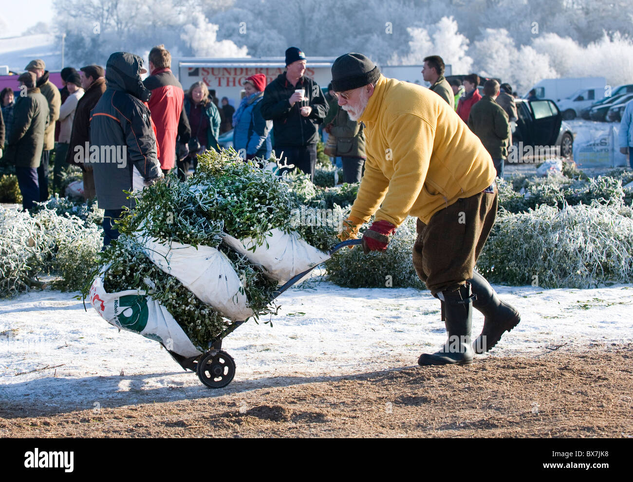
M 474 271 L 497 212 L 496 171 L 479 138 L 435 92 L 385 78 L 363 54 L 332 65 L 332 89 L 351 120 L 366 127 L 367 161 L 342 240 L 363 234 L 363 249 L 384 251 L 406 219 L 416 216 L 413 266 L 441 301 L 444 346 L 418 364 L 471 364 L 473 351 L 491 349 L 520 321 Z M 472 307 L 484 329 L 471 345 Z M 474 348 L 474 350 L 473 350 Z

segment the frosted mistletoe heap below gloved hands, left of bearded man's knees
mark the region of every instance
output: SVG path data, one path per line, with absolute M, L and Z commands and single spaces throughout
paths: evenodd
M 346 288 L 424 288 L 413 268 L 416 218 L 407 218 L 391 237 L 385 252 L 365 254 L 360 246 L 343 248 L 325 262 L 328 280 Z M 361 228 L 360 234 L 371 225 Z

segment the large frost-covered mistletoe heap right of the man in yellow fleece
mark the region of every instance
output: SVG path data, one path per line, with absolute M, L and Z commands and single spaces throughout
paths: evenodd
M 477 266 L 489 281 L 508 285 L 530 284 L 533 276 L 544 288 L 633 282 L 630 209 L 594 201 L 500 211 Z

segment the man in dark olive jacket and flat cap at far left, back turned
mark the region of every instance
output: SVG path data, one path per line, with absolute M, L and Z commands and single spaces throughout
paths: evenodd
M 42 159 L 44 131 L 49 125 L 48 101 L 35 87 L 36 81 L 35 74 L 28 71 L 18 77 L 21 95 L 15 102 L 13 124 L 7 136 L 6 157 L 15 163 L 24 209 L 40 200 L 37 168 Z

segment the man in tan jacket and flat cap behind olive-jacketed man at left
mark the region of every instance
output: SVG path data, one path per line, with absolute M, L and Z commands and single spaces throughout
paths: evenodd
M 49 123 L 44 133 L 44 150 L 42 151 L 42 161 L 37 168 L 37 177 L 39 180 L 39 201 L 48 201 L 48 163 L 51 159 L 51 151 L 55 147 L 55 121 L 60 118 L 61 96 L 60 90 L 49 80 L 49 71 L 46 70 L 46 64 L 42 59 L 35 59 L 28 63 L 24 68 L 29 72 L 33 72 L 37 77 L 37 87 L 42 96 L 46 97 L 49 110 Z M 56 162 L 62 162 L 58 159 Z

